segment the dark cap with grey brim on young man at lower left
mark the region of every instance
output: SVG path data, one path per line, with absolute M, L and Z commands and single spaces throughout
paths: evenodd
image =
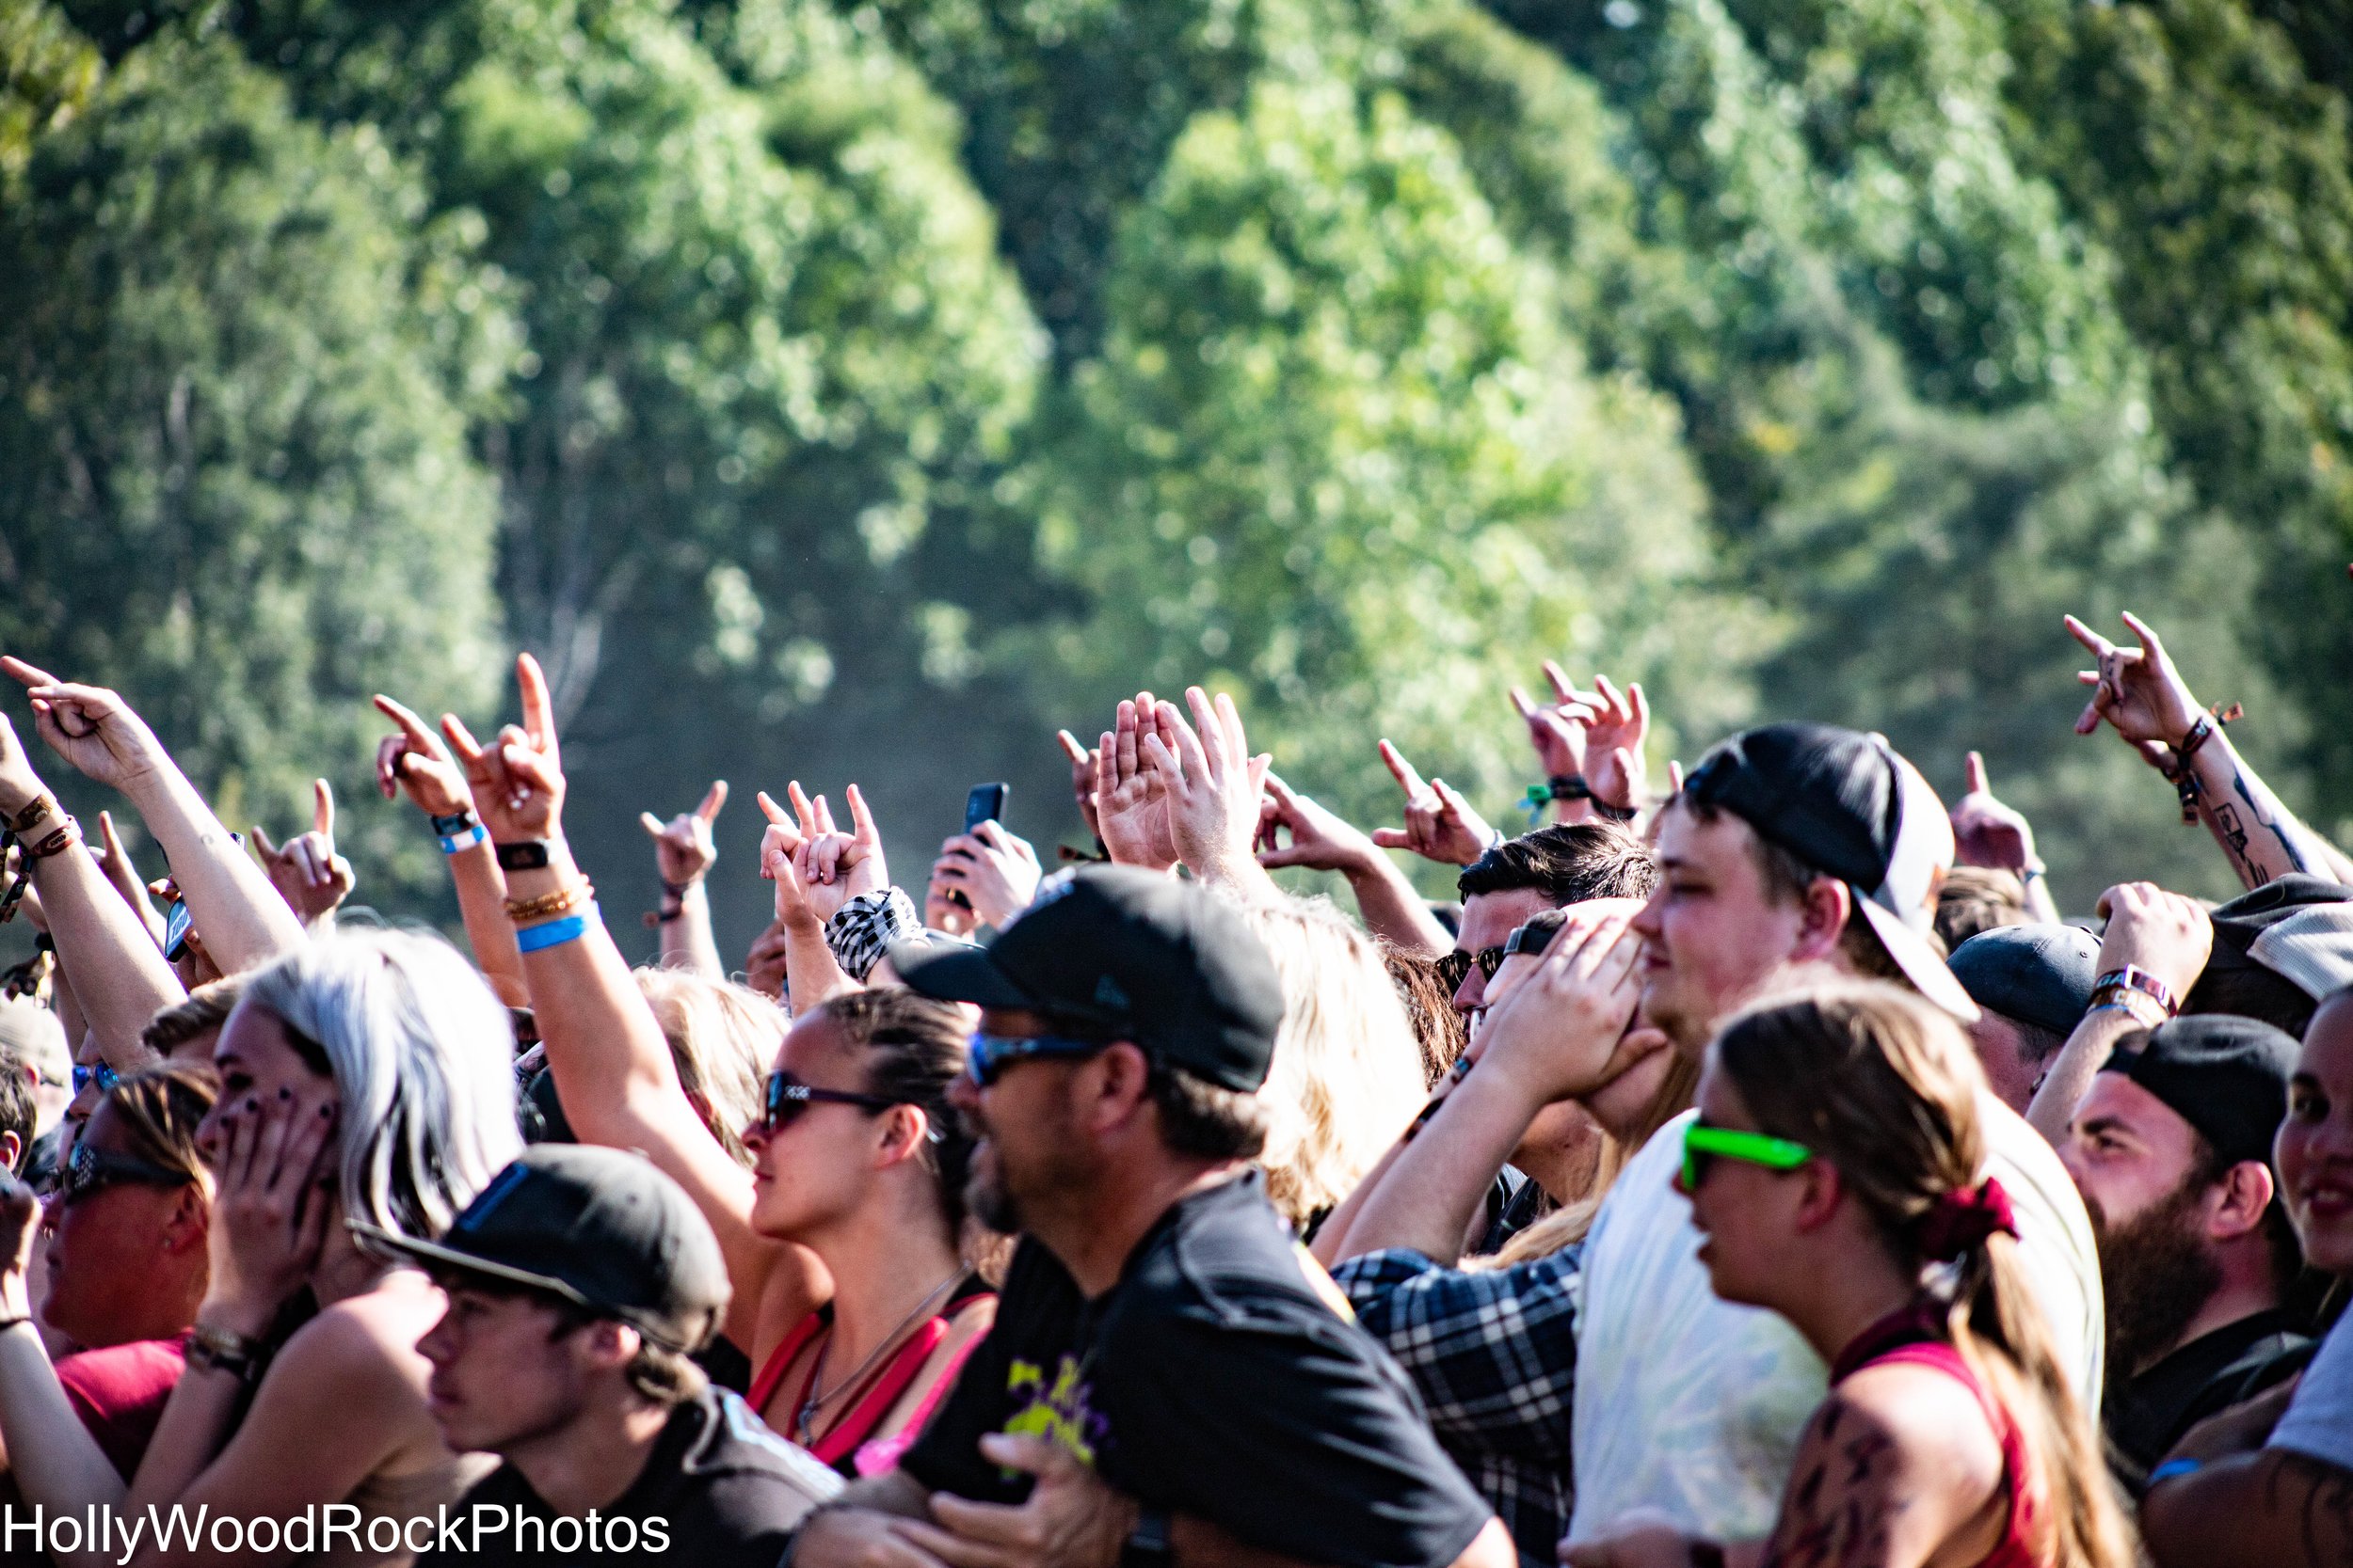
M 704 1349 L 727 1312 L 727 1260 L 711 1222 L 685 1187 L 624 1150 L 532 1145 L 440 1241 L 351 1229 L 428 1272 L 546 1291 L 685 1354 Z

